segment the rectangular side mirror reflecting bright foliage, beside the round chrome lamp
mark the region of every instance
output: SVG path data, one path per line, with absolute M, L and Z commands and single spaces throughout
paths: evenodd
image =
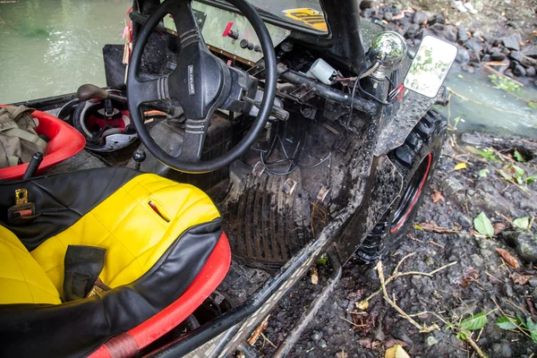
M 405 88 L 435 98 L 455 61 L 457 49 L 446 41 L 426 36 L 405 77 Z

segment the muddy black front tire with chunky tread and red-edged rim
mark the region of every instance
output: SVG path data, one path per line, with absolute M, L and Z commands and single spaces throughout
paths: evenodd
M 403 190 L 356 251 L 364 263 L 374 263 L 395 250 L 408 233 L 419 206 L 429 192 L 446 136 L 446 118 L 430 110 L 413 128 L 405 143 L 390 153 L 403 175 Z

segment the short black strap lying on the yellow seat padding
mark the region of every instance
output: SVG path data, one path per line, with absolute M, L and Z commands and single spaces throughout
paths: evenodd
M 106 249 L 69 245 L 65 252 L 64 302 L 86 298 L 105 267 Z

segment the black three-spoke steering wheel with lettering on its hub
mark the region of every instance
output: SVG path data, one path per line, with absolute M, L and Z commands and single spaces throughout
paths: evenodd
M 259 13 L 246 0 L 227 1 L 250 21 L 253 30 L 260 39 L 266 68 L 265 93 L 260 111 L 243 140 L 225 154 L 210 160 L 201 160 L 200 158 L 214 111 L 232 100 L 231 89 L 237 86 L 243 87 L 245 77 L 244 75 L 237 76 L 236 69 L 231 69 L 221 59 L 210 53 L 192 13 L 192 0 L 166 0 L 160 4 L 141 28 L 132 49 L 127 74 L 127 97 L 129 98 L 132 122 L 149 152 L 164 165 L 181 172 L 207 173 L 226 166 L 242 156 L 260 135 L 274 103 L 277 63 L 267 27 L 261 20 Z M 175 50 L 177 65 L 169 75 L 154 80 L 141 81 L 139 73 L 143 49 L 159 21 L 168 13 L 173 16 L 177 28 L 177 50 Z M 245 76 L 248 78 L 247 74 Z M 236 98 L 235 92 L 233 99 L 236 101 L 238 98 Z M 141 105 L 172 98 L 181 104 L 186 117 L 182 148 L 177 157 L 166 153 L 151 138 L 141 114 Z

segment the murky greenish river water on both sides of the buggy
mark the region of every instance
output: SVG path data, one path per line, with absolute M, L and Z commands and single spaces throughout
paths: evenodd
M 71 93 L 83 83 L 105 86 L 102 47 L 121 44 L 131 0 L 0 0 L 0 103 Z M 484 72 L 454 66 L 449 108 L 457 131 L 481 130 L 537 139 L 537 90 L 516 96 L 493 87 Z M 524 99 L 521 99 L 524 98 Z

